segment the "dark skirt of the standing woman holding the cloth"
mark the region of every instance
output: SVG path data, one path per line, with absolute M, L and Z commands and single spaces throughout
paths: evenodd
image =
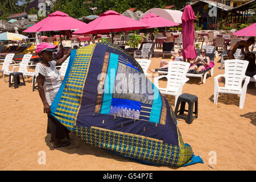
M 47 114 L 47 117 L 47 133 L 51 133 L 51 139 L 61 139 L 65 137 L 69 139 L 68 133 L 70 131 L 51 115 Z

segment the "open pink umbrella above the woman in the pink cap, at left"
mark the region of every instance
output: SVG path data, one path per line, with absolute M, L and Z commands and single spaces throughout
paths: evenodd
M 73 30 L 80 27 L 85 27 L 87 24 L 72 18 L 68 14 L 61 11 L 55 11 L 49 14 L 40 22 L 24 30 L 24 32 L 42 32 L 42 31 L 60 31 Z

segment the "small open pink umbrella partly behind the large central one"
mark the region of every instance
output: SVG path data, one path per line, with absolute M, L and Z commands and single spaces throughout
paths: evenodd
M 155 28 L 155 27 L 172 27 L 178 26 L 179 23 L 172 22 L 171 20 L 162 18 L 156 14 L 148 13 L 147 15 L 143 16 L 139 22 L 143 22 L 150 27 L 147 28 Z

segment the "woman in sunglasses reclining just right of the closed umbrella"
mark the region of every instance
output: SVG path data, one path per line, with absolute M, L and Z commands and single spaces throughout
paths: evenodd
M 201 49 L 200 53 L 201 53 L 200 56 L 196 57 L 194 61 L 194 65 L 188 69 L 189 72 L 195 69 L 196 73 L 199 73 L 205 68 L 205 66 L 208 66 L 208 67 L 210 66 L 210 59 L 208 56 L 206 56 L 206 53 L 207 53 L 206 50 Z

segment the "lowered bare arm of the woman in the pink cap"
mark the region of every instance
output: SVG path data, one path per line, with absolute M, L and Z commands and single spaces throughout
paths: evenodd
M 44 105 L 44 113 L 51 113 L 50 106 L 48 105 L 48 102 L 46 101 L 46 94 L 44 93 L 44 79 L 45 77 L 39 73 L 39 75 L 36 77 L 36 81 L 38 81 L 38 91 L 39 96 L 43 102 Z

